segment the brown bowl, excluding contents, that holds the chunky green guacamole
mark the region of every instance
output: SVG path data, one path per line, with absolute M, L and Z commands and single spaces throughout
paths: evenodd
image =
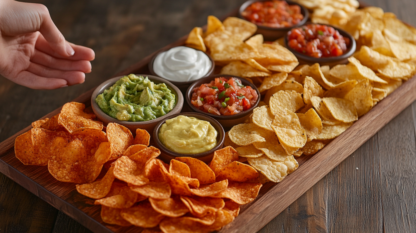
M 114 85 L 119 79 L 121 79 L 124 76 L 114 77 L 114 78 L 108 79 L 107 81 L 100 84 L 94 90 L 94 92 L 92 93 L 92 96 L 91 96 L 92 110 L 94 111 L 94 114 L 97 116 L 97 118 L 104 123 L 104 126 L 106 126 L 110 122 L 114 122 L 114 123 L 121 124 L 122 126 L 125 126 L 126 128 L 128 128 L 133 135 L 136 134 L 136 129 L 145 129 L 146 131 L 148 131 L 150 133 L 151 131 L 153 131 L 154 127 L 156 126 L 156 124 L 159 123 L 159 121 L 162 121 L 163 119 L 166 119 L 167 117 L 169 117 L 173 114 L 177 114 L 177 113 L 181 112 L 182 107 L 183 107 L 183 95 L 182 95 L 181 91 L 178 89 L 178 87 L 173 85 L 168 80 L 163 79 L 161 77 L 154 76 L 154 75 L 137 74 L 137 76 L 148 77 L 149 80 L 154 82 L 155 84 L 165 83 L 166 86 L 168 87 L 168 89 L 170 89 L 171 92 L 173 94 L 175 94 L 175 100 L 176 100 L 175 106 L 167 114 L 165 114 L 161 117 L 158 117 L 156 119 L 149 120 L 149 121 L 136 121 L 136 122 L 121 121 L 119 119 L 110 117 L 109 115 L 107 115 L 105 112 L 103 112 L 100 109 L 100 107 L 98 106 L 95 99 L 97 98 L 97 96 L 99 94 L 102 94 L 104 92 L 104 90 L 106 90 L 109 87 L 111 87 L 112 85 Z

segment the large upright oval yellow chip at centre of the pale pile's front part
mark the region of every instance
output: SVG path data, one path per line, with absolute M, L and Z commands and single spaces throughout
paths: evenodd
M 305 146 L 306 131 L 300 125 L 296 113 L 290 110 L 277 112 L 272 123 L 272 129 L 286 152 L 288 152 L 287 147 L 299 149 Z

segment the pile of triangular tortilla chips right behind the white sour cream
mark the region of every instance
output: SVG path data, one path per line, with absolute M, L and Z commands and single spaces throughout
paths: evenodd
M 262 35 L 251 37 L 256 31 L 257 26 L 246 20 L 228 17 L 221 22 L 208 16 L 206 32 L 195 27 L 186 45 L 208 52 L 216 65 L 224 66 L 221 74 L 236 75 L 254 83 L 295 69 L 299 64 L 295 55 L 277 42 L 263 43 Z

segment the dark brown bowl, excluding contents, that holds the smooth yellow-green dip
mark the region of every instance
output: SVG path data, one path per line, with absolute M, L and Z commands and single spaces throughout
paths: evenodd
M 181 153 L 172 151 L 168 149 L 166 146 L 164 146 L 158 136 L 159 132 L 161 131 L 162 125 L 166 123 L 166 120 L 172 119 L 178 116 L 195 117 L 199 120 L 208 121 L 217 131 L 216 145 L 209 151 L 205 151 L 205 152 L 198 153 L 198 154 L 181 154 Z M 225 132 L 224 132 L 223 126 L 221 126 L 221 124 L 215 119 L 213 119 L 212 117 L 209 117 L 205 114 L 201 114 L 197 112 L 183 112 L 179 114 L 170 115 L 169 117 L 164 118 L 163 121 L 159 121 L 159 123 L 156 125 L 156 127 L 153 130 L 153 140 L 156 144 L 155 146 L 159 148 L 161 151 L 161 154 L 158 158 L 168 164 L 171 161 L 171 159 L 175 159 L 176 157 L 192 157 L 195 159 L 199 159 L 203 161 L 204 163 L 208 164 L 212 160 L 212 157 L 214 156 L 214 151 L 223 148 L 224 139 L 225 139 Z

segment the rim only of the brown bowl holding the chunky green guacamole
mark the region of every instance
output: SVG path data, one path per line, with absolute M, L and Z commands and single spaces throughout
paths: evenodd
M 137 76 L 143 76 L 143 77 L 148 77 L 149 80 L 151 80 L 152 82 L 157 82 L 157 83 L 165 83 L 169 89 L 174 90 L 177 93 L 177 100 L 176 100 L 176 104 L 175 107 L 173 107 L 173 109 L 177 109 L 177 108 L 182 108 L 183 107 L 183 94 L 181 92 L 181 90 L 179 90 L 178 87 L 176 87 L 173 83 L 169 82 L 166 79 L 163 79 L 161 77 L 158 76 L 154 76 L 154 75 L 149 75 L 149 74 L 136 74 Z M 99 94 L 102 94 L 104 92 L 105 89 L 109 88 L 110 86 L 112 86 L 114 83 L 116 83 L 119 79 L 121 79 L 122 77 L 124 77 L 126 75 L 121 75 L 121 76 L 117 76 L 111 79 L 108 79 L 107 81 L 103 82 L 102 84 L 100 84 L 95 90 L 94 92 L 92 92 L 91 95 L 91 107 L 92 109 L 95 111 L 97 111 L 97 113 L 100 114 L 100 117 L 106 119 L 107 121 L 110 122 L 114 122 L 117 124 L 121 124 L 121 125 L 145 125 L 145 124 L 152 124 L 152 123 L 156 123 L 157 121 L 161 121 L 163 119 L 165 119 L 166 117 L 169 117 L 170 115 L 172 115 L 171 113 L 173 112 L 173 109 L 168 112 L 167 114 L 158 117 L 156 119 L 152 119 L 149 121 L 120 121 L 119 119 L 115 119 L 110 117 L 109 115 L 107 115 L 105 112 L 103 112 L 100 107 L 98 106 L 97 102 L 95 102 L 95 98 L 97 98 L 97 96 Z M 159 79 L 159 80 L 158 80 Z M 180 103 L 182 103 L 182 106 L 180 106 Z

